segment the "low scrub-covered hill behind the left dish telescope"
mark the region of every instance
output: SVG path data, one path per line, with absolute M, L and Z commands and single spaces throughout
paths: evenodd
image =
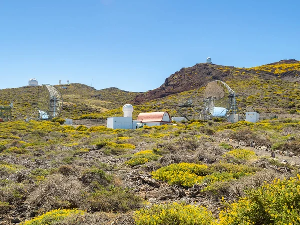
M 139 94 L 115 87 L 96 90 L 93 87 L 80 83 L 72 83 L 69 86 L 55 85 L 55 87 L 61 92 L 63 97 L 64 105 L 61 117 L 64 118 L 72 118 L 89 113 L 102 113 L 119 108 L 127 102 L 132 102 L 136 95 Z M 36 89 L 24 86 L 0 90 L 0 105 L 8 105 L 16 95 L 18 95 L 16 99 L 17 104 L 22 104 L 22 108 L 25 108 L 26 105 L 29 106 L 29 104 L 36 104 Z M 17 107 L 17 105 L 15 106 Z M 13 117 L 15 116 L 16 114 L 13 113 Z

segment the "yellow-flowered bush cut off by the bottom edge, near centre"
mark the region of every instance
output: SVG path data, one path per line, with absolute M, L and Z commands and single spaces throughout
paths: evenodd
M 195 205 L 155 204 L 149 209 L 141 209 L 134 214 L 136 225 L 210 225 L 215 222 L 210 211 Z

